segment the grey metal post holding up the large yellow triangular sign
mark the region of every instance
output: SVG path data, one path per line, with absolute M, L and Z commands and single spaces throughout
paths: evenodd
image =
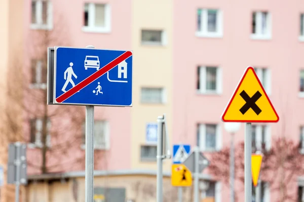
M 246 123 L 245 130 L 245 202 L 251 202 L 251 123 Z

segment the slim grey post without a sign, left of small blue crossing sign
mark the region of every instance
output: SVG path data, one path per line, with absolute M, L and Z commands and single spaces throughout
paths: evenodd
M 163 202 L 163 116 L 157 118 L 157 202 Z

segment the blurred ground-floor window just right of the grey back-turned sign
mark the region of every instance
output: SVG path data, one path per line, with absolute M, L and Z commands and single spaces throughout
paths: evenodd
M 221 184 L 220 182 L 215 181 L 201 181 L 200 184 L 201 189 L 201 200 L 202 201 L 221 201 Z

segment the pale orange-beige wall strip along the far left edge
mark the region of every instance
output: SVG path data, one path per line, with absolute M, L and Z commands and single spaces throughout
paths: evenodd
M 10 125 L 6 121 L 6 112 L 10 112 L 14 120 L 18 122 L 21 118 L 20 111 L 16 114 L 16 108 L 8 100 L 7 90 L 10 70 L 14 61 L 23 59 L 23 0 L 1 0 L 0 1 L 0 165 L 4 167 L 6 174 L 8 136 L 12 135 L 8 131 Z M 22 66 L 18 67 L 22 70 Z M 14 74 L 11 74 L 14 75 Z M 19 116 L 20 115 L 20 116 Z M 18 122 L 18 125 L 21 122 Z M 14 130 L 17 128 L 13 128 Z M 21 134 L 19 128 L 16 134 Z M 4 178 L 6 182 L 6 176 Z M 8 187 L 6 184 L 1 188 L 1 202 L 14 200 L 14 186 Z

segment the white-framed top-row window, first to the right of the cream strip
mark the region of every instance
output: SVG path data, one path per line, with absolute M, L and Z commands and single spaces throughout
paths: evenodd
M 222 12 L 218 9 L 198 9 L 196 35 L 222 37 Z

